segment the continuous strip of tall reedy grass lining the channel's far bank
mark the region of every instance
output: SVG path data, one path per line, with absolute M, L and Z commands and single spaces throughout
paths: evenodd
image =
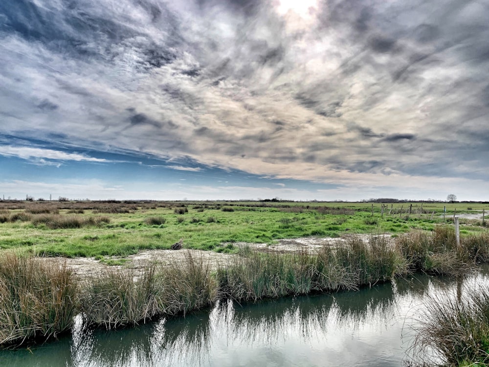
M 56 337 L 73 327 L 77 314 L 89 325 L 111 329 L 185 315 L 222 298 L 253 301 L 356 290 L 417 270 L 457 274 L 488 259 L 487 235 L 464 237 L 457 247 L 448 227 L 412 232 L 394 243 L 379 236 L 351 236 L 314 254 L 244 249 L 217 270 L 188 254 L 183 263 L 148 263 L 140 276 L 118 269 L 80 279 L 66 264 L 46 266 L 3 252 L 0 342 L 18 346 Z

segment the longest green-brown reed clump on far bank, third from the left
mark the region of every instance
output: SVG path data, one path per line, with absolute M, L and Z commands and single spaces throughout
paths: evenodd
M 385 240 L 352 237 L 318 254 L 251 252 L 217 272 L 223 294 L 244 300 L 356 289 L 402 274 L 400 251 Z

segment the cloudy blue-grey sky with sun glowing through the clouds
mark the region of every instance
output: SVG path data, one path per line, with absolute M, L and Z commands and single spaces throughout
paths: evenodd
M 0 1 L 0 198 L 489 200 L 489 0 Z

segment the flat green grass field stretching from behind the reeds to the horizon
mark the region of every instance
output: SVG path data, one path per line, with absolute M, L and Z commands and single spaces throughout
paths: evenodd
M 290 202 L 0 202 L 0 250 L 49 256 L 127 256 L 186 248 L 235 252 L 222 243 L 273 243 L 281 238 L 339 237 L 344 233 L 399 234 L 453 223 L 453 213 L 480 213 L 472 203 Z M 443 209 L 446 206 L 445 221 Z M 411 213 L 409 214 L 409 210 Z M 461 219 L 461 234 L 488 223 Z

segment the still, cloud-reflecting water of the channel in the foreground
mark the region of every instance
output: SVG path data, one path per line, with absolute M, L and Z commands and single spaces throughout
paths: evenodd
M 0 366 L 401 366 L 427 297 L 488 280 L 487 269 L 459 280 L 415 275 L 358 292 L 221 302 L 115 331 L 77 319 L 58 341 L 0 351 Z

